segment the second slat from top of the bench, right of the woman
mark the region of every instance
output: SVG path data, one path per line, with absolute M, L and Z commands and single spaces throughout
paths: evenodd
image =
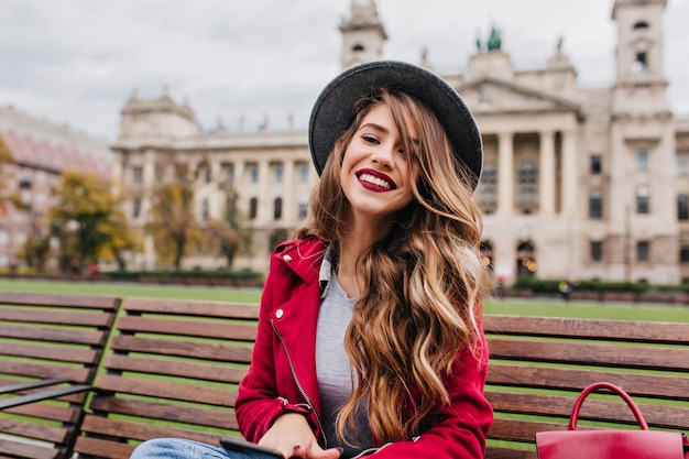
M 489 339 L 491 358 L 689 371 L 689 348 Z

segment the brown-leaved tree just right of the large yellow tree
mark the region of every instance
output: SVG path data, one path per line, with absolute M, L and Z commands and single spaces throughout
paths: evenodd
M 182 259 L 201 233 L 194 218 L 194 173 L 185 164 L 175 167 L 177 179 L 153 190 L 151 221 L 147 230 L 154 236 L 155 250 L 162 260 L 172 261 L 179 271 Z

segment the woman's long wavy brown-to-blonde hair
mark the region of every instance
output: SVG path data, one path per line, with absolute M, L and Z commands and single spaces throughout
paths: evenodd
M 328 241 L 337 254 L 349 205 L 340 184 L 342 157 L 378 103 L 391 108 L 417 181 L 414 199 L 386 237 L 358 260 L 357 272 L 367 281 L 344 338 L 352 394 L 337 430 L 342 439 L 351 438 L 348 428 L 358 434 L 358 407 L 368 401 L 371 430 L 384 444 L 417 435 L 434 411 L 450 403 L 444 378 L 458 352 L 475 348 L 486 276 L 471 178 L 431 110 L 406 94 L 380 90 L 357 103 L 356 120 L 336 143 L 311 195 L 310 220 L 297 237 Z M 411 127 L 418 144 L 412 143 Z

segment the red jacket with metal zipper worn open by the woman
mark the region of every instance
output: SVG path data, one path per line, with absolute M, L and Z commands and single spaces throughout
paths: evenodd
M 285 412 L 306 415 L 316 438 L 320 429 L 320 400 L 316 380 L 316 324 L 320 306 L 318 274 L 326 245 L 314 239 L 277 247 L 261 298 L 259 331 L 251 368 L 239 386 L 234 404 L 244 437 L 258 442 Z M 470 351 L 457 356 L 446 378 L 451 404 L 439 407 L 438 420 L 415 440 L 396 441 L 375 459 L 482 458 L 493 411 L 483 395 L 488 343 L 481 336 L 478 361 Z

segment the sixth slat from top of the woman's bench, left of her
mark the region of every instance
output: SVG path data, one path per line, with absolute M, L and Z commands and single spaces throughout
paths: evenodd
M 175 423 L 196 424 L 226 430 L 239 430 L 233 412 L 218 411 L 192 406 L 176 405 L 171 409 L 168 404 L 127 400 L 112 396 L 96 396 L 90 403 L 95 413 L 106 412 L 127 414 L 149 419 L 165 419 Z

